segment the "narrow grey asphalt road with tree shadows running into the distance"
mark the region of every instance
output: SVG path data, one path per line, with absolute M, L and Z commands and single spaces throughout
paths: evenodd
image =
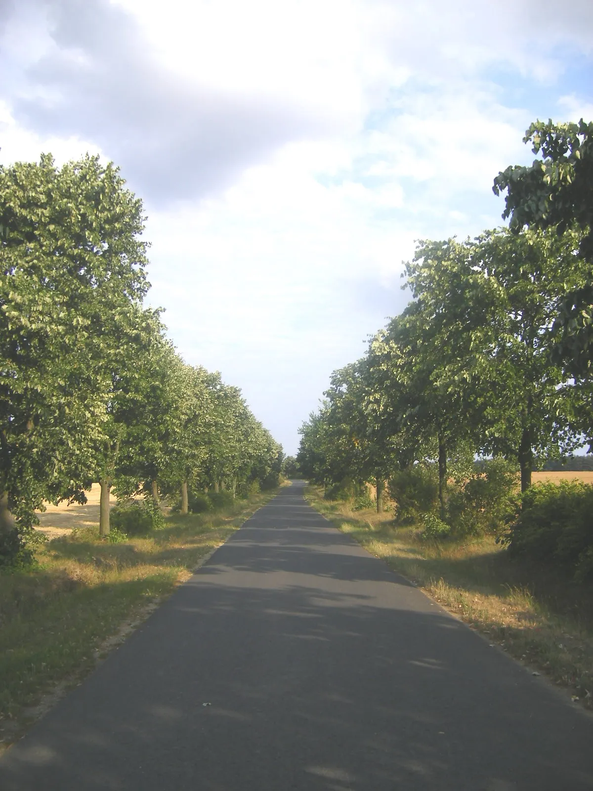
M 580 791 L 593 721 L 296 483 L 6 753 L 0 789 Z

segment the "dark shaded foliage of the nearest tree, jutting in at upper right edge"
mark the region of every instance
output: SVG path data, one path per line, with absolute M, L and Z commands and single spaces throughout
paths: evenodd
M 593 123 L 537 121 L 523 142 L 542 154 L 528 167 L 509 166 L 494 180 L 496 195 L 507 190 L 503 218 L 515 231 L 579 228 L 580 257 L 593 267 Z M 557 358 L 576 377 L 593 368 L 593 287 L 589 282 L 565 295 L 556 320 Z

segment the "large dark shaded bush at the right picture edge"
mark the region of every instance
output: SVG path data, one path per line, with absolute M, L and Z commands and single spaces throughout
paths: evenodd
M 554 562 L 577 581 L 593 577 L 593 486 L 580 481 L 531 486 L 504 541 L 512 554 Z

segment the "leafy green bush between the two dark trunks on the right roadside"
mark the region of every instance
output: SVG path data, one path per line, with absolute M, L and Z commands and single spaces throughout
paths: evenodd
M 500 534 L 513 510 L 516 469 L 497 457 L 475 465 L 469 478 L 449 491 L 447 521 L 458 535 Z

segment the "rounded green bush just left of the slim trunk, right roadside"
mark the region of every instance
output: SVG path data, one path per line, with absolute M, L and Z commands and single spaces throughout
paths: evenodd
M 421 521 L 436 508 L 439 480 L 434 464 L 414 464 L 391 476 L 387 490 L 397 504 L 395 518 L 400 524 Z

